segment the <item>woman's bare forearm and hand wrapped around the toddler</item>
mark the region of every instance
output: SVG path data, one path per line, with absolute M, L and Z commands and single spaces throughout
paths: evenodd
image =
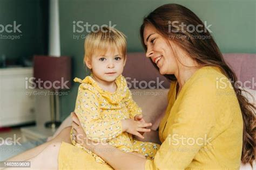
M 99 155 L 99 157 L 103 158 L 114 169 L 144 169 L 146 159 L 137 155 L 125 153 L 118 150 L 114 146 L 107 145 L 106 143 L 95 143 L 95 141 L 89 140 L 86 138 L 86 135 L 76 114 L 72 112 L 71 117 L 73 120 L 72 128 L 74 129 L 74 133 L 77 137 L 79 137 L 77 143 L 80 143 L 87 149 L 92 150 L 95 154 Z M 82 137 L 83 140 L 80 140 L 80 137 Z

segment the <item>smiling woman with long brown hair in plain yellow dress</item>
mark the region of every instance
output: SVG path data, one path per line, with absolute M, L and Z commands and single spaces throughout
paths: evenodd
M 191 25 L 200 29 L 190 30 Z M 237 78 L 201 20 L 184 6 L 166 4 L 144 18 L 140 37 L 147 58 L 172 80 L 169 105 L 159 126 L 161 146 L 156 157 L 146 160 L 109 145 L 91 144 L 72 114 L 77 142 L 114 169 L 239 169 L 240 161 L 252 164 L 255 107 L 234 86 Z M 218 86 L 219 80 L 225 88 Z M 158 140 L 157 131 L 145 134 L 145 139 L 146 136 Z M 110 168 L 92 164 L 86 153 L 74 149 L 68 143 L 53 143 L 37 157 L 56 160 L 56 155 L 48 154 L 56 150 L 59 168 Z M 37 157 L 34 162 L 39 161 Z

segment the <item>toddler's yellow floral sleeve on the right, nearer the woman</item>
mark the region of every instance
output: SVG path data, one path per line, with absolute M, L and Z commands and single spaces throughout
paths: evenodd
M 130 118 L 134 118 L 135 115 L 142 115 L 142 109 L 133 101 L 132 93 L 129 88 L 127 88 L 125 104 L 130 112 Z

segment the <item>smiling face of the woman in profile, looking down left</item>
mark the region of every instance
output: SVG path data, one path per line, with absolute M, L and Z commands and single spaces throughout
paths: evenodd
M 157 64 L 160 74 L 174 74 L 178 69 L 177 60 L 172 51 L 172 48 L 175 50 L 174 44 L 171 48 L 172 42 L 161 36 L 151 25 L 145 26 L 143 37 L 147 47 L 146 57 Z

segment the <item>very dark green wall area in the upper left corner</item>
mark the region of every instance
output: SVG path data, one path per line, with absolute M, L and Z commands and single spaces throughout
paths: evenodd
M 47 53 L 48 8 L 46 0 L 1 0 L 0 24 L 21 24 L 21 33 L 2 32 L 0 35 L 19 36 L 19 39 L 3 39 L 0 37 L 0 56 L 6 59 L 30 57 L 33 54 Z

